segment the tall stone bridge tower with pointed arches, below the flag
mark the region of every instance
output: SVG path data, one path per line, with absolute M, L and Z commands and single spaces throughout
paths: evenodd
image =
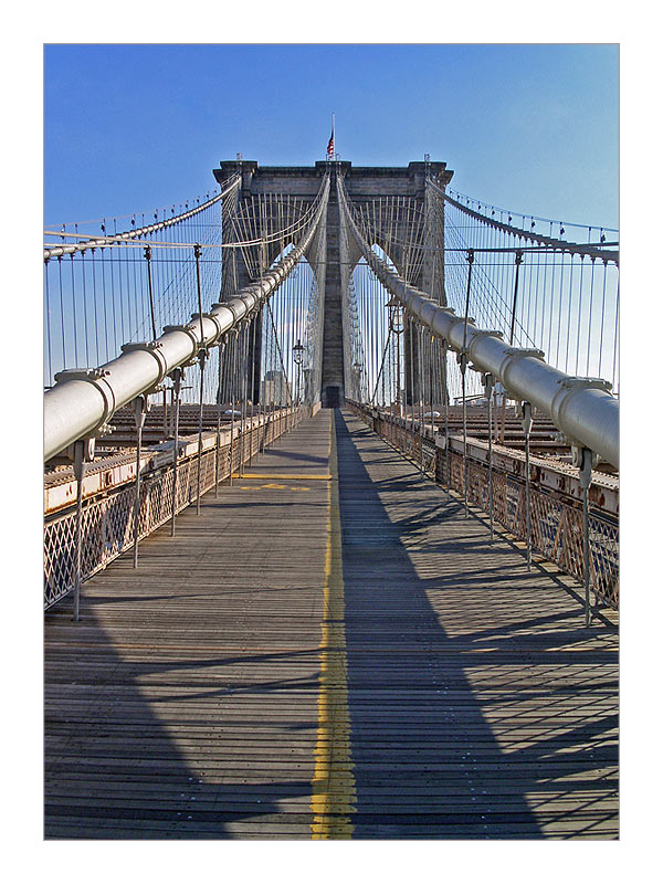
M 307 259 L 313 267 L 316 282 L 324 296 L 324 333 L 323 356 L 320 375 L 320 400 L 323 406 L 341 404 L 345 392 L 344 377 L 344 340 L 343 340 L 343 286 L 351 275 L 355 257 L 350 256 L 352 266 L 343 266 L 340 261 L 340 210 L 336 181 L 343 179 L 348 197 L 359 213 L 367 218 L 376 218 L 385 213 L 386 223 L 389 224 L 389 239 L 378 241 L 378 245 L 389 253 L 399 273 L 412 285 L 427 292 L 440 304 L 445 304 L 444 298 L 444 270 L 440 261 L 440 252 L 433 252 L 431 246 L 438 249 L 444 242 L 444 221 L 439 214 L 431 211 L 427 197 L 427 177 L 444 188 L 453 176 L 446 169 L 445 162 L 410 162 L 407 167 L 369 167 L 356 166 L 347 160 L 333 162 L 318 161 L 315 166 L 259 166 L 255 160 L 223 160 L 218 169 L 213 170 L 214 178 L 220 183 L 235 172 L 241 172 L 242 186 L 238 190 L 238 211 L 252 212 L 250 207 L 252 198 L 263 197 L 260 202 L 262 217 L 254 219 L 261 229 L 278 230 L 283 222 L 283 202 L 280 198 L 290 197 L 306 206 L 315 200 L 320 187 L 323 176 L 330 171 L 332 188 L 327 207 L 326 228 L 316 236 L 311 245 Z M 242 209 L 244 207 L 244 209 Z M 228 225 L 223 230 L 223 241 L 240 240 L 236 225 Z M 420 260 L 412 262 L 412 250 L 407 243 L 420 243 Z M 396 243 L 396 248 L 394 248 Z M 401 245 L 398 245 L 400 243 Z M 284 244 L 273 243 L 266 248 L 264 261 L 272 261 L 283 250 Z M 273 254 L 272 254 L 273 252 Z M 324 260 L 319 260 L 319 255 Z M 242 250 L 230 250 L 223 264 L 221 298 L 231 297 L 243 285 L 250 284 L 255 278 L 255 267 L 251 267 L 251 260 Z M 266 266 L 269 266 L 269 263 Z M 260 319 L 254 319 L 259 323 Z M 257 329 L 260 332 L 260 329 Z M 255 335 L 255 340 L 262 339 L 261 334 Z M 260 366 L 260 345 L 252 358 Z M 417 352 L 406 347 L 406 364 L 408 371 L 413 370 L 418 383 Z M 256 372 L 260 375 L 260 372 Z M 254 400 L 259 391 L 254 390 Z

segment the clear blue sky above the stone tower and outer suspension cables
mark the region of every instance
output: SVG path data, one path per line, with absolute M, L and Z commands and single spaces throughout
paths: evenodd
M 407 165 L 519 212 L 618 227 L 615 45 L 46 45 L 45 221 L 207 192 L 241 151 Z

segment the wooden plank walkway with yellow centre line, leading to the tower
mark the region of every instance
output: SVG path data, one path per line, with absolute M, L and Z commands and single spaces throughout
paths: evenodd
M 81 612 L 45 615 L 46 838 L 618 836 L 615 629 L 348 412 Z

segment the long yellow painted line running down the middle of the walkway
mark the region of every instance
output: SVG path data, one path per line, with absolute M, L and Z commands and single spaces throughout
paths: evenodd
M 338 475 L 334 412 L 329 424 L 329 465 Z M 348 709 L 340 515 L 335 482 L 329 483 L 327 491 L 324 604 L 311 836 L 314 840 L 349 839 L 357 796 Z

